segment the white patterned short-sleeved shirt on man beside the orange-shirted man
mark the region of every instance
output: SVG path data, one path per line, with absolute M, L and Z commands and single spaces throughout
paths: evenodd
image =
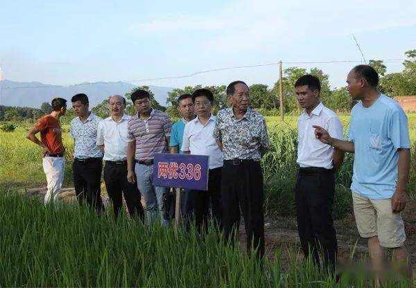
M 78 159 L 103 157 L 103 153 L 101 153 L 100 148 L 96 144 L 98 123 L 102 120 L 92 112 L 85 122 L 79 117 L 71 120 L 69 136 L 75 140 L 73 156 Z

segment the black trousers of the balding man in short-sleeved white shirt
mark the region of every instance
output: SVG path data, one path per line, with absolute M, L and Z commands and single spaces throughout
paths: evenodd
M 141 195 L 136 183 L 127 181 L 127 162 L 115 164 L 105 161 L 104 181 L 108 196 L 114 208 L 114 214 L 118 217 L 123 206 L 123 195 L 127 204 L 128 213 L 132 218 L 140 217 L 144 220 L 144 210 L 141 206 Z

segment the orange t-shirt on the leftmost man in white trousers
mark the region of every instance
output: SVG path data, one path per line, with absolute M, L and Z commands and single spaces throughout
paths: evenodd
M 40 131 L 40 141 L 51 150 L 51 154 L 64 152 L 62 129 L 58 119 L 53 118 L 51 115 L 43 116 L 36 121 L 35 128 Z

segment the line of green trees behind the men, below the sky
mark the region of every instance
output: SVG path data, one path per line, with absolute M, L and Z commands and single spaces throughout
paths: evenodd
M 416 49 L 406 51 L 404 53 L 406 60 L 403 62 L 404 70 L 397 73 L 387 73 L 387 67 L 383 60 L 370 60 L 369 65 L 372 66 L 380 75 L 379 89 L 381 92 L 389 96 L 416 96 Z M 295 97 L 293 87 L 300 76 L 306 73 L 317 76 L 321 81 L 320 97 L 324 105 L 338 112 L 349 112 L 352 108 L 352 101 L 345 87 L 331 89 L 329 85 L 329 75 L 321 69 L 314 67 L 309 70 L 300 67 L 288 67 L 284 69 L 283 75 L 283 98 L 284 111 L 286 114 L 298 113 L 299 107 Z M 266 84 L 250 85 L 251 106 L 257 109 L 265 116 L 279 115 L 279 80 L 268 87 Z M 125 94 L 127 99 L 126 112 L 129 115 L 135 114 L 135 107 L 130 101 L 130 95 L 137 89 L 144 89 L 150 93 L 150 102 L 152 107 L 161 111 L 166 111 L 171 117 L 180 117 L 177 107 L 179 105 L 177 99 L 184 93 L 193 93 L 196 89 L 207 88 L 214 94 L 214 113 L 218 109 L 227 107 L 227 97 L 225 95 L 225 85 L 202 87 L 202 85 L 187 86 L 183 89 L 173 89 L 168 92 L 166 99 L 167 107 L 161 105 L 155 100 L 153 91 L 148 86 L 141 86 L 132 89 Z M 70 103 L 69 103 L 70 106 Z M 42 103 L 40 109 L 29 107 L 6 107 L 0 106 L 0 120 L 13 121 L 24 119 L 36 119 L 42 115 L 49 114 L 52 107 L 49 103 Z M 107 107 L 107 99 L 103 100 L 96 107 L 92 107 L 94 114 L 105 118 L 110 116 Z M 62 118 L 62 122 L 67 123 L 73 118 L 73 113 L 69 107 L 67 115 Z

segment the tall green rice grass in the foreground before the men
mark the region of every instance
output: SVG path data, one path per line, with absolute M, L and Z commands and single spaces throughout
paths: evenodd
M 363 273 L 336 283 L 297 253 L 287 269 L 279 250 L 260 264 L 211 229 L 201 237 L 78 205 L 44 208 L 15 192 L 0 193 L 0 211 L 0 287 L 372 287 Z

